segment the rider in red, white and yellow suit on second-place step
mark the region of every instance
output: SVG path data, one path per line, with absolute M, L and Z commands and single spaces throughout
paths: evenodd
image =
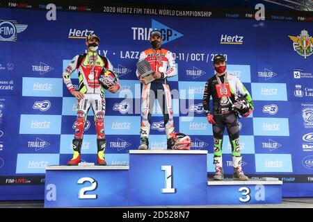
M 73 96 L 77 98 L 77 124 L 72 141 L 74 155 L 67 165 L 77 165 L 81 162 L 81 144 L 83 141 L 83 130 L 87 119 L 88 111 L 93 108 L 95 116 L 95 127 L 97 130 L 97 164 L 106 165 L 104 151 L 106 148 L 106 138 L 104 133 L 105 97 L 104 87 L 99 82 L 99 76 L 103 71 L 109 69 L 113 71 L 111 62 L 99 56 L 97 49 L 99 46 L 97 35 L 88 35 L 86 46 L 88 52 L 75 56 L 70 64 L 63 71 L 63 81 Z M 79 90 L 75 91 L 71 74 L 77 69 L 79 74 Z M 116 76 L 116 75 L 115 75 Z M 118 81 L 118 76 L 116 76 Z M 119 83 L 109 87 L 109 92 L 115 93 L 120 89 Z

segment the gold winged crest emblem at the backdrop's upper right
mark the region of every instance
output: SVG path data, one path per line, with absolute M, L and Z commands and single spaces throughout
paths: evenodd
M 288 35 L 288 37 L 293 42 L 294 51 L 296 51 L 296 53 L 300 56 L 304 56 L 304 58 L 312 55 L 313 37 L 311 37 L 307 31 L 303 30 L 298 36 Z

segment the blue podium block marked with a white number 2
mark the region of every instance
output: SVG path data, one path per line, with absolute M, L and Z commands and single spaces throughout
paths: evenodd
M 46 168 L 45 207 L 127 206 L 126 166 Z

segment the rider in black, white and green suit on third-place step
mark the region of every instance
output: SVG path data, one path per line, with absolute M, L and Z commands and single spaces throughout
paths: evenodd
M 243 117 L 248 117 L 254 109 L 252 98 L 239 78 L 232 74 L 227 74 L 224 56 L 218 55 L 214 57 L 214 69 L 216 70 L 216 75 L 207 80 L 202 100 L 207 119 L 213 125 L 214 164 L 216 166 L 214 180 L 224 179 L 222 144 L 225 126 L 232 146 L 233 179 L 248 180 L 248 177 L 244 175 L 241 169 L 242 157 L 237 113 L 241 113 Z M 239 98 L 237 92 L 244 96 L 245 102 L 236 100 Z M 209 108 L 210 96 L 213 99 L 213 115 Z

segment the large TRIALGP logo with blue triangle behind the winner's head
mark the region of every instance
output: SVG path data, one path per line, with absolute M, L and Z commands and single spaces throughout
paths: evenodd
M 152 19 L 152 28 L 131 27 L 131 30 L 133 31 L 133 40 L 149 40 L 150 33 L 155 29 L 161 31 L 162 44 L 166 44 L 167 42 L 171 42 L 172 40 L 176 40 L 183 36 L 182 33 Z

